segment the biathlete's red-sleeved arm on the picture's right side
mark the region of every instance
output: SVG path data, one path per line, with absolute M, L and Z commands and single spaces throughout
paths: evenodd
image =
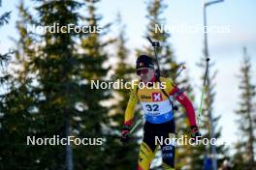
M 174 95 L 178 93 L 178 91 L 179 89 L 176 86 L 174 86 L 170 95 Z M 190 127 L 197 126 L 195 109 L 193 107 L 191 100 L 188 99 L 184 93 L 179 94 L 176 97 L 176 100 L 185 108 Z

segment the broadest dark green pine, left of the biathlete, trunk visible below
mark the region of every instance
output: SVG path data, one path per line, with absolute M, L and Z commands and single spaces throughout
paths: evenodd
M 76 1 L 42 2 L 37 8 L 39 21 L 43 25 L 67 26 L 78 25 L 77 10 L 81 4 Z M 45 99 L 40 100 L 38 108 L 45 115 L 44 127 L 47 134 L 59 134 L 68 137 L 76 134 L 74 127 L 75 117 L 79 114 L 76 104 L 80 102 L 80 82 L 74 77 L 78 71 L 78 56 L 75 54 L 75 32 L 54 33 L 47 32 L 42 36 L 45 45 L 39 47 L 42 53 L 34 59 L 35 70 L 39 71 L 41 93 Z M 49 115 L 50 114 L 50 115 Z M 44 128 L 43 128 L 44 129 Z M 48 152 L 48 158 L 55 156 L 56 168 L 68 170 L 74 168 L 72 148 L 70 145 L 58 146 Z M 53 157 L 52 157 L 53 158 Z M 65 159 L 65 164 L 64 160 Z

